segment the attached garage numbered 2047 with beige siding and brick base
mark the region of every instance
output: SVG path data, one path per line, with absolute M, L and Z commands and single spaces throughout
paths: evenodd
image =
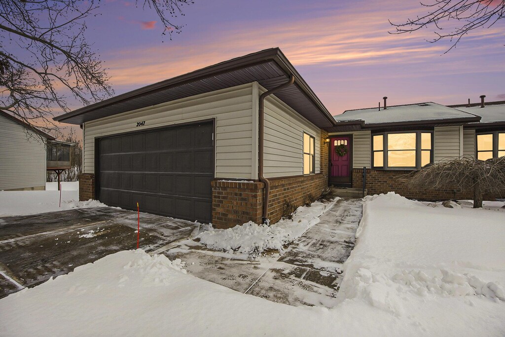
M 277 48 L 55 120 L 83 131 L 80 200 L 228 228 L 275 223 L 286 201 L 299 206 L 328 185 L 321 128 L 334 119 Z

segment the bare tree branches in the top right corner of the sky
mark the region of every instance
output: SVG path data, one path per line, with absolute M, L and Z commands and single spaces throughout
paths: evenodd
M 400 24 L 389 21 L 396 28 L 390 33 L 412 33 L 421 28 L 433 28 L 436 37 L 430 42 L 443 38 L 453 42 L 445 53 L 472 30 L 489 28 L 505 18 L 505 0 L 434 0 L 434 3 L 421 5 L 428 9 L 426 15 L 408 18 L 407 22 Z

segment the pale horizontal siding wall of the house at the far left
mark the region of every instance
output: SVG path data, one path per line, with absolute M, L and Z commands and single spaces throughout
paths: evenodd
M 0 190 L 45 189 L 45 145 L 20 124 L 0 116 Z

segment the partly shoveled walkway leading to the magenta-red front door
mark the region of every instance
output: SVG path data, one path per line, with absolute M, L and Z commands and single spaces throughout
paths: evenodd
M 292 306 L 331 308 L 337 303 L 341 267 L 355 246 L 362 212 L 362 200 L 339 200 L 278 259 L 231 259 L 192 242 L 163 254 L 185 261 L 190 274 L 241 293 Z

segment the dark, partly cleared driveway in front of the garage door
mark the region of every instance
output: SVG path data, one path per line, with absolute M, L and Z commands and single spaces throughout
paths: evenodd
M 163 246 L 200 224 L 140 213 L 140 248 Z M 0 218 L 0 298 L 137 247 L 137 213 L 110 207 Z

